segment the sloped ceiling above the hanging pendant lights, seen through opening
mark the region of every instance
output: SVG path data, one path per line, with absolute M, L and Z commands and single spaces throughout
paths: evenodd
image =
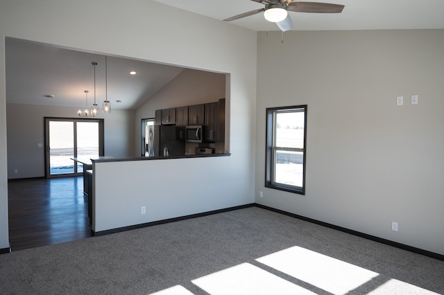
M 100 107 L 108 98 L 112 108 L 117 109 L 139 107 L 183 70 L 177 66 L 105 57 L 7 38 L 6 102 L 85 107 L 84 91 L 87 90 L 91 105 L 94 101 L 92 62 L 97 62 L 97 104 Z M 136 75 L 130 75 L 130 71 Z

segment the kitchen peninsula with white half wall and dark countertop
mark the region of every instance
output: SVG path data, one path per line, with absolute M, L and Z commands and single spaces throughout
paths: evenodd
M 92 235 L 105 235 L 148 226 L 151 222 L 216 210 L 212 194 L 201 190 L 210 177 L 223 180 L 216 169 L 231 161 L 229 153 L 170 157 L 92 159 L 88 211 Z M 203 165 L 205 169 L 196 170 Z M 213 171 L 210 175 L 208 171 Z M 213 181 L 213 180 L 212 180 Z M 206 181 L 208 182 L 208 181 Z M 223 181 L 218 186 L 225 186 Z M 201 199 L 189 206 L 188 195 Z M 181 199 L 176 199 L 176 198 Z M 202 209 L 204 207 L 204 209 Z M 207 207 L 207 208 L 205 208 Z

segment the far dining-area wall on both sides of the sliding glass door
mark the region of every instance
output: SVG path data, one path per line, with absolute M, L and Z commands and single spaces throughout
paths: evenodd
M 44 177 L 44 117 L 76 118 L 77 108 L 7 104 L 8 179 Z M 105 156 L 134 157 L 135 111 L 113 109 L 104 119 Z M 19 173 L 15 174 L 14 169 Z

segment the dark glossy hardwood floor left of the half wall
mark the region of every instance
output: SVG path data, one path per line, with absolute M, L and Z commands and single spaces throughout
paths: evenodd
M 12 251 L 88 238 L 83 177 L 8 181 Z

